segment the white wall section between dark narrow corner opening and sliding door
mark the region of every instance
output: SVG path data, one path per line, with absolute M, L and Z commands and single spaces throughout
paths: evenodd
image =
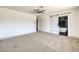
M 49 15 L 42 15 L 38 17 L 39 31 L 50 32 L 50 17 Z

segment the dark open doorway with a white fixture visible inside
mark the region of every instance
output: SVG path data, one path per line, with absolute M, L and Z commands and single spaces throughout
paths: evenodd
M 58 18 L 59 35 L 68 36 L 68 16 Z

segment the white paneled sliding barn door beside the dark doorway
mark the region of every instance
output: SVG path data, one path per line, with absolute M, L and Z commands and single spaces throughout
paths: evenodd
M 59 34 L 58 16 L 51 17 L 51 33 Z

